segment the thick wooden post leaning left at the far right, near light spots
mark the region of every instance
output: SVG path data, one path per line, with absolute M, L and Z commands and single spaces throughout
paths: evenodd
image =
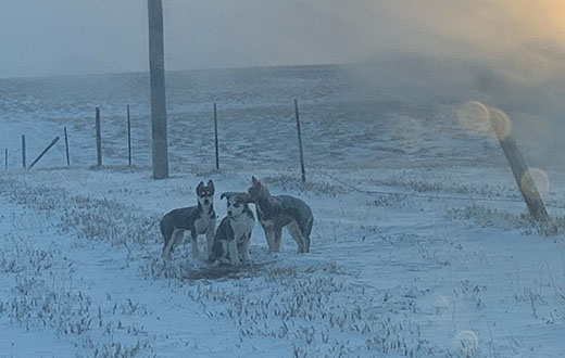
M 538 192 L 536 182 L 526 166 L 526 162 L 516 144 L 514 138 L 506 132 L 510 119 L 506 114 L 497 108 L 489 108 L 490 120 L 494 132 L 499 139 L 502 151 L 508 161 L 514 179 L 518 184 L 518 189 L 528 206 L 530 216 L 539 222 L 549 222 L 549 214 L 543 203 L 543 199 Z

